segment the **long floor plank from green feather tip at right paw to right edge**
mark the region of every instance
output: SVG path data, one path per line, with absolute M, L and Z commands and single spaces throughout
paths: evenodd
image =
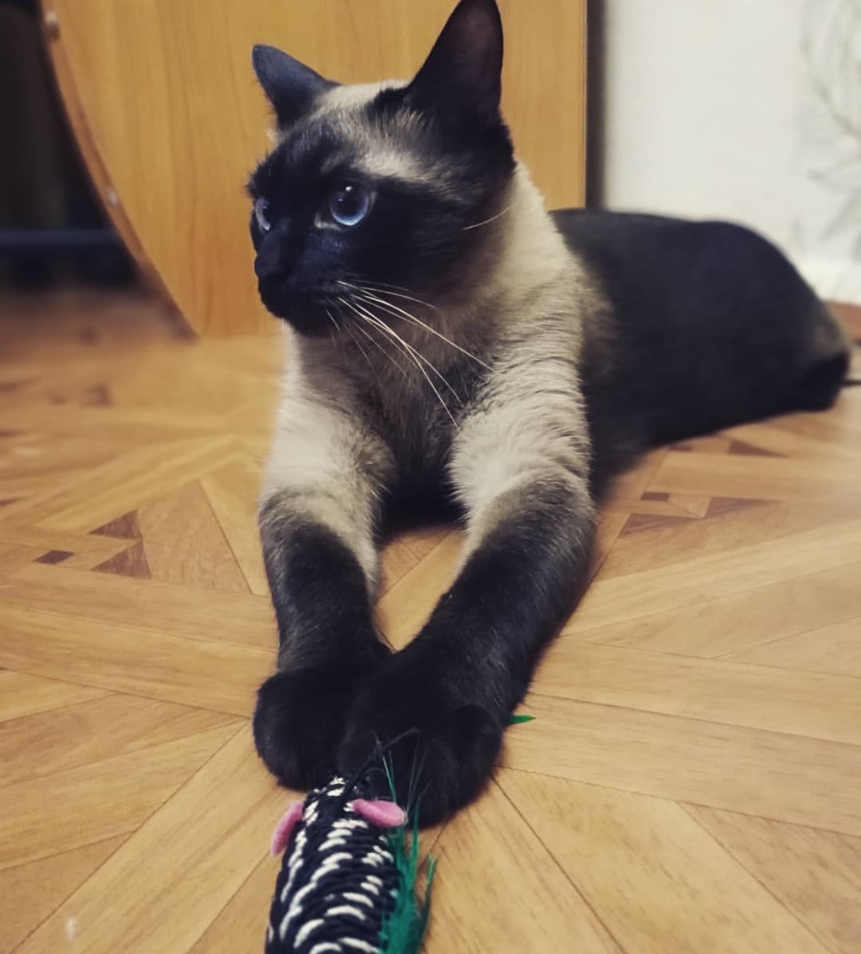
M 527 695 L 502 764 L 861 835 L 858 747 Z

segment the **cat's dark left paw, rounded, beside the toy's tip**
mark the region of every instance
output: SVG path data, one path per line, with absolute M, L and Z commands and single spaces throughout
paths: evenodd
M 257 753 L 288 788 L 322 785 L 335 771 L 347 713 L 368 668 L 320 668 L 276 673 L 257 691 Z

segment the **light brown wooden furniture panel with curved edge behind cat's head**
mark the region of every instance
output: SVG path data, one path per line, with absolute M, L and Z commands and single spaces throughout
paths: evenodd
M 416 71 L 454 0 L 45 0 L 81 150 L 141 267 L 201 333 L 275 328 L 243 187 L 267 149 L 251 48 L 343 82 Z M 503 110 L 550 207 L 584 196 L 585 0 L 501 0 Z

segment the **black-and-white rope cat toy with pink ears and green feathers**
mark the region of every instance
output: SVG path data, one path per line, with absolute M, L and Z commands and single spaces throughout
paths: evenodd
M 434 862 L 420 900 L 418 821 L 408 834 L 399 805 L 363 794 L 359 779 L 333 778 L 278 822 L 265 954 L 418 954 Z

